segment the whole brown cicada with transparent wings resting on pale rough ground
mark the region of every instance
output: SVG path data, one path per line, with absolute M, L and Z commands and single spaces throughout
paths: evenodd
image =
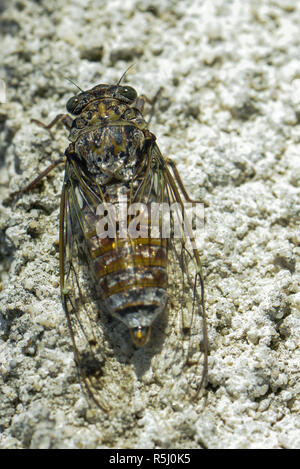
M 98 398 L 103 317 L 125 324 L 134 346 L 142 347 L 176 298 L 181 334 L 189 338 L 185 363 L 193 363 L 195 346 L 203 357 L 194 395 L 207 373 L 204 282 L 191 223 L 185 221 L 180 235 L 174 236 L 182 222 L 178 212 L 183 213 L 191 200 L 175 164 L 162 156 L 148 128 L 145 102 L 121 80 L 81 90 L 68 100 L 68 114 L 58 115 L 49 125 L 40 123 L 48 130 L 59 121 L 67 127 L 70 143 L 64 159 L 20 191 L 28 191 L 64 162 L 61 298 L 80 375 L 104 409 Z M 176 204 L 177 210 L 169 213 L 168 235 L 161 213 L 152 224 L 149 221 L 153 204 Z M 133 206 L 138 210 L 130 211 Z M 135 230 L 128 229 L 130 224 Z

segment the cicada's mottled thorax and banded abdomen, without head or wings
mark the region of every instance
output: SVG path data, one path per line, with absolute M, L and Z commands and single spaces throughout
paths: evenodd
M 148 229 L 149 206 L 156 198 L 153 189 L 143 187 L 147 196 L 139 198 L 144 203 L 139 233 L 128 229 L 133 221 L 133 214 L 128 213 L 151 164 L 155 138 L 137 109 L 105 99 L 87 106 L 74 120 L 70 140 L 67 155 L 76 155 L 89 187 L 100 194 L 96 213 L 91 214 L 84 200 L 79 205 L 101 308 L 126 324 L 136 345 L 144 345 L 168 300 L 167 246 L 166 239 L 151 238 Z M 119 216 L 124 209 L 121 226 Z

